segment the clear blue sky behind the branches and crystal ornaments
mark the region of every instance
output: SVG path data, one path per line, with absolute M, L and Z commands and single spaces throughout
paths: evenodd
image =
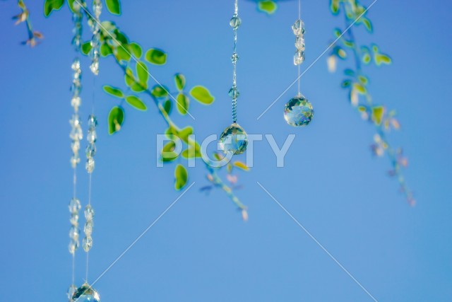
M 28 6 L 35 28 L 45 35 L 35 49 L 19 45 L 25 28 L 11 21 L 18 13 L 15 1 L 0 3 L 1 300 L 65 301 L 71 279 L 71 15 L 65 6 L 46 19 L 42 1 Z M 326 58 L 302 79 L 316 110 L 309 127 L 292 128 L 283 120 L 283 105 L 295 88 L 256 120 L 295 79 L 290 25 L 296 6 L 282 1 L 268 17 L 251 1 L 240 4 L 239 122 L 249 133 L 273 134 L 279 144 L 297 134 L 285 168 L 276 168 L 265 141 L 256 143 L 255 166 L 239 176 L 244 189 L 237 192 L 249 206 L 247 223 L 223 192 L 199 192 L 207 184 L 206 170 L 201 164 L 192 168 L 194 188 L 96 284 L 102 301 L 371 301 L 256 182 L 377 300 L 451 301 L 451 1 L 379 0 L 368 15 L 374 35 L 355 31 L 394 59 L 392 66 L 369 68 L 370 89 L 376 103 L 398 110 L 403 129 L 391 140 L 409 157 L 405 175 L 415 190 L 414 208 L 386 176 L 387 158 L 371 156 L 374 130 L 350 108 L 341 76 L 328 73 Z M 307 66 L 343 20 L 331 16 L 326 0 L 302 6 Z M 216 96 L 210 107 L 192 102 L 195 122 L 175 120 L 194 124 L 201 137 L 219 134 L 230 124 L 232 0 L 123 1 L 122 8 L 120 18 L 106 11 L 102 18 L 117 21 L 144 47 L 168 52 L 167 65 L 150 69 L 157 79 L 172 85 L 172 75 L 182 72 L 188 86 L 203 84 Z M 84 121 L 93 92 L 88 64 L 84 58 Z M 148 112 L 126 108 L 122 131 L 108 136 L 107 112 L 115 100 L 100 87 L 124 84 L 111 59 L 100 66 L 90 280 L 180 194 L 174 191 L 174 163 L 155 168 L 155 134 L 164 123 L 149 100 Z M 79 171 L 78 191 L 86 204 L 88 178 Z M 81 249 L 76 262 L 80 285 Z

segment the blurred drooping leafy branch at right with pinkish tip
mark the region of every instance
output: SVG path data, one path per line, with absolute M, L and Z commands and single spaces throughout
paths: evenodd
M 358 0 L 331 0 L 330 8 L 333 15 L 341 12 L 345 18 L 346 33 L 340 28 L 335 28 L 335 37 L 340 37 L 328 57 L 328 69 L 334 72 L 338 59 L 347 60 L 352 57 L 352 66 L 344 69 L 345 79 L 341 86 L 347 90 L 350 104 L 357 110 L 362 119 L 373 124 L 376 130 L 374 144 L 371 151 L 375 156 L 388 156 L 391 162 L 391 170 L 388 175 L 397 179 L 400 191 L 405 194 L 410 205 L 415 205 L 412 191 L 408 188 L 403 176 L 403 168 L 408 165 L 408 159 L 403 156 L 403 149 L 393 147 L 388 141 L 388 132 L 400 129 L 400 123 L 396 119 L 396 111 L 388 110 L 386 106 L 374 103 L 369 93 L 369 77 L 364 73 L 364 66 L 374 63 L 383 66 L 392 63 L 388 54 L 380 52 L 376 44 L 360 45 L 354 35 L 355 28 L 364 26 L 368 33 L 374 28 L 367 17 L 366 7 Z M 346 34 L 346 35 L 345 35 Z

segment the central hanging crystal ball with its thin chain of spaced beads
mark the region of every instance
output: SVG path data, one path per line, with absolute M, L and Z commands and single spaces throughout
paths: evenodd
M 237 29 L 242 20 L 239 17 L 239 8 L 237 0 L 235 0 L 234 16 L 230 20 L 232 30 L 234 30 L 234 52 L 232 53 L 232 88 L 230 88 L 229 96 L 232 98 L 232 124 L 223 131 L 220 136 L 219 146 L 225 153 L 242 154 L 248 146 L 248 139 L 245 130 L 237 124 L 237 98 L 239 98 L 239 90 L 237 89 Z

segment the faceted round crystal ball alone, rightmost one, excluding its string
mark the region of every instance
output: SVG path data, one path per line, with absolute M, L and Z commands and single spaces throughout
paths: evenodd
M 291 126 L 306 126 L 314 117 L 311 103 L 304 95 L 299 94 L 292 98 L 284 108 L 284 118 Z

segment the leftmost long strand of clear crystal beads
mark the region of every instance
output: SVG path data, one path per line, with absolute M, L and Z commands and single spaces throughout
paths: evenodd
M 73 4 L 73 39 L 72 45 L 74 50 L 78 53 L 81 48 L 81 34 L 82 34 L 82 13 L 81 7 L 77 4 Z M 78 211 L 81 209 L 81 204 L 78 198 L 76 197 L 76 187 L 77 187 L 77 165 L 80 163 L 80 156 L 78 151 L 80 150 L 80 141 L 83 139 L 83 132 L 81 128 L 80 117 L 78 116 L 78 108 L 81 106 L 81 78 L 82 71 L 80 67 L 80 60 L 76 57 L 71 65 L 71 69 L 73 70 L 73 80 L 72 80 L 72 98 L 71 98 L 71 106 L 73 107 L 73 115 L 71 120 L 69 121 L 71 124 L 71 167 L 73 168 L 73 197 L 71 202 L 69 202 L 69 213 L 71 214 L 70 223 L 71 228 L 69 231 L 69 252 L 72 255 L 72 283 L 69 286 L 67 291 L 67 296 L 69 301 L 72 301 L 73 294 L 76 292 L 75 286 L 75 261 L 76 261 L 76 250 L 80 245 L 79 236 L 80 229 L 78 228 Z

